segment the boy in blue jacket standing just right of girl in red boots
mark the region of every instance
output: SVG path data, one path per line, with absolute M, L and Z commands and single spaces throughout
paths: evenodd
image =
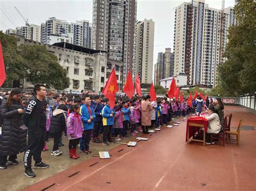
M 91 153 L 89 144 L 92 136 L 93 130 L 93 118 L 95 118 L 95 114 L 93 114 L 93 109 L 90 107 L 91 98 L 86 95 L 84 104 L 81 107 L 80 113 L 82 122 L 84 125 L 84 132 L 82 139 L 80 140 L 80 151 L 83 154 Z

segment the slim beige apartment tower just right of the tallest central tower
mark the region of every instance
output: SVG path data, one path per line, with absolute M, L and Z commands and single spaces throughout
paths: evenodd
M 151 83 L 153 76 L 154 22 L 144 19 L 137 23 L 136 62 L 133 65 L 133 78 L 140 75 L 141 83 Z

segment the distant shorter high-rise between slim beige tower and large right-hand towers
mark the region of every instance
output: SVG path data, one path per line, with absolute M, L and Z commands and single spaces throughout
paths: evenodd
M 160 80 L 173 76 L 173 62 L 174 54 L 171 52 L 171 48 L 165 48 L 165 53 L 158 53 L 154 78 L 156 85 L 160 85 Z

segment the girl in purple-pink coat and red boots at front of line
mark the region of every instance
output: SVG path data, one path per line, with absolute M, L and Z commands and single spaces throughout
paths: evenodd
M 67 136 L 69 139 L 69 155 L 71 159 L 79 158 L 77 155 L 77 145 L 79 143 L 79 138 L 82 137 L 84 131 L 79 112 L 80 106 L 78 104 L 71 105 L 70 114 L 66 124 Z

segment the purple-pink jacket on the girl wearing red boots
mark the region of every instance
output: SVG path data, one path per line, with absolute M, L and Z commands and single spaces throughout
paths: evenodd
M 78 117 L 76 117 L 78 116 Z M 72 112 L 69 114 L 68 121 L 66 123 L 66 129 L 68 134 L 68 139 L 77 139 L 82 137 L 84 131 L 81 116 Z M 73 134 L 73 138 L 70 137 Z

